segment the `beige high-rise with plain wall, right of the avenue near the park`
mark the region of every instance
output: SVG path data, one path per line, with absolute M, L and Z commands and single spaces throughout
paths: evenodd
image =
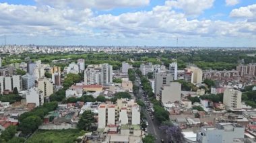
M 191 83 L 198 84 L 203 81 L 203 71 L 200 68 L 190 66 L 189 68 L 185 68 L 185 73 L 192 73 Z

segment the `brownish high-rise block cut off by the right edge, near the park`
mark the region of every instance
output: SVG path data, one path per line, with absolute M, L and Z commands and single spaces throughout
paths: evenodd
M 236 66 L 240 77 L 256 77 L 256 64 L 240 64 Z

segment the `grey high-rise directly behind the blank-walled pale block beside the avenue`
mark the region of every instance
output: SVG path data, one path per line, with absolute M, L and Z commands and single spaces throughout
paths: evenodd
M 157 73 L 154 82 L 154 93 L 158 95 L 163 85 L 169 85 L 173 81 L 173 77 L 169 73 Z

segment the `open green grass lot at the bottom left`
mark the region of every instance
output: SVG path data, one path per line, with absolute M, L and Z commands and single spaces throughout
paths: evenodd
M 71 143 L 75 142 L 77 137 L 83 136 L 84 131 L 77 129 L 68 130 L 38 130 L 27 143 Z

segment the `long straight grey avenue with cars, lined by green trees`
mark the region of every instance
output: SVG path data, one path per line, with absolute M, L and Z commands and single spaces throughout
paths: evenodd
M 139 87 L 139 93 L 135 95 L 135 97 L 139 97 L 146 105 L 146 101 L 148 101 L 148 97 L 143 97 L 143 90 L 141 89 L 141 86 L 139 85 L 140 83 L 140 78 L 139 76 L 136 75 L 136 78 L 138 79 L 135 81 L 135 85 Z M 150 117 L 149 111 L 147 111 L 146 107 L 141 108 L 141 111 L 146 115 L 147 121 L 148 121 L 148 134 L 152 134 L 156 137 L 156 142 L 161 142 L 161 139 L 164 139 L 166 141 L 166 136 L 164 133 L 162 133 L 161 130 L 159 130 L 159 124 L 156 122 L 156 120 L 152 120 Z M 154 117 L 155 119 L 155 117 Z

